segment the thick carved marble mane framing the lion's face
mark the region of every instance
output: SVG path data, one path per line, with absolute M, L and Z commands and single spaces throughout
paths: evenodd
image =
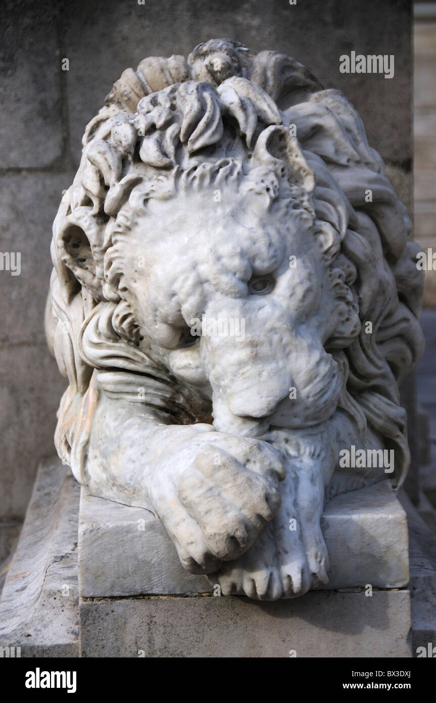
M 296 125 L 298 140 L 289 136 L 289 124 Z M 351 292 L 362 321 L 354 336 L 326 343 L 343 375 L 340 406 L 395 447 L 399 486 L 409 449 L 397 384 L 423 348 L 418 247 L 409 241 L 407 211 L 384 176 L 383 161 L 342 93 L 323 90 L 293 58 L 216 39 L 187 60 L 150 57 L 136 72 L 124 71 L 83 143 L 79 170 L 53 225 L 46 316 L 49 344 L 69 382 L 55 444 L 77 479 L 86 470 L 87 428 L 100 388 L 133 401 L 147 375 L 155 390 L 141 402 L 164 421 L 204 421 L 210 413 L 203 399 L 140 349 L 115 255 L 117 236 L 134 216 L 135 194 L 171 198 L 180 188 L 201 188 L 206 174 L 209 183 L 251 178 L 261 186 L 275 174 L 285 176 L 293 209 L 316 219 L 335 243 L 324 254 L 337 297 L 346 297 L 344 288 Z M 217 143 L 229 153 L 219 163 L 213 159 Z M 253 156 L 257 172 L 250 170 Z M 366 334 L 367 322 L 372 334 Z M 341 484 L 338 475 L 330 491 L 355 487 Z

